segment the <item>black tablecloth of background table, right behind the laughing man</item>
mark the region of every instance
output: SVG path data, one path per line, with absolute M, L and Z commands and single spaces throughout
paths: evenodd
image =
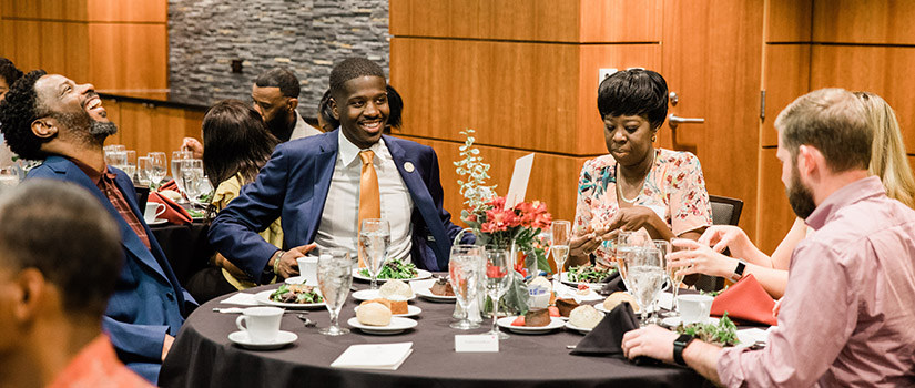
M 207 266 L 214 251 L 206 239 L 207 224 L 194 222 L 184 225 L 162 224 L 150 226 L 155 241 L 165 252 L 179 283 L 187 284 L 197 270 Z

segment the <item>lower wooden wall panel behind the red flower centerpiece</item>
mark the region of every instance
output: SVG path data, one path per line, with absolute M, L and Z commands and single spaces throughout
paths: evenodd
M 438 154 L 441 187 L 445 193 L 445 210 L 451 213 L 451 221 L 459 222 L 460 211 L 464 208 L 464 197 L 457 185 L 457 173 L 453 162 L 460 159 L 458 147 L 464 143 L 444 142 L 429 139 L 400 136 L 426 144 L 435 149 Z M 479 146 L 484 162 L 489 163 L 489 184 L 498 185 L 496 192 L 505 195 L 511 181 L 515 160 L 527 155 L 528 151 L 506 150 L 492 146 Z M 533 157 L 533 172 L 528 184 L 527 201 L 539 200 L 547 203 L 553 219 L 575 218 L 576 194 L 578 175 L 588 157 L 571 157 L 538 153 Z

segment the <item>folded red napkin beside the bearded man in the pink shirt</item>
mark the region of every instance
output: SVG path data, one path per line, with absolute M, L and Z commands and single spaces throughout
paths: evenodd
M 772 315 L 772 307 L 775 307 L 775 300 L 752 274 L 748 274 L 715 297 L 712 315 L 720 317 L 728 312 L 734 319 L 775 326 L 779 321 Z

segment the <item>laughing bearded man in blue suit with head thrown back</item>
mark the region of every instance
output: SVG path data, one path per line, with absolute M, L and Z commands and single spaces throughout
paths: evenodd
M 118 222 L 124 263 L 102 326 L 118 357 L 155 384 L 162 360 L 196 302 L 177 283 L 143 221 L 133 182 L 105 165 L 102 146 L 118 129 L 108 120 L 94 86 L 32 71 L 0 103 L 0 129 L 19 156 L 44 160 L 27 178 L 75 183 Z

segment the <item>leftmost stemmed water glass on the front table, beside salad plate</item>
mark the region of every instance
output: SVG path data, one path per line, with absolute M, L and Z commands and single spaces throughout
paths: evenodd
M 349 251 L 328 249 L 318 256 L 317 284 L 324 297 L 324 305 L 331 313 L 331 326 L 319 329 L 318 333 L 326 336 L 349 333 L 349 329 L 339 326 L 340 307 L 349 295 L 349 286 L 353 285 L 353 261 L 349 258 Z

